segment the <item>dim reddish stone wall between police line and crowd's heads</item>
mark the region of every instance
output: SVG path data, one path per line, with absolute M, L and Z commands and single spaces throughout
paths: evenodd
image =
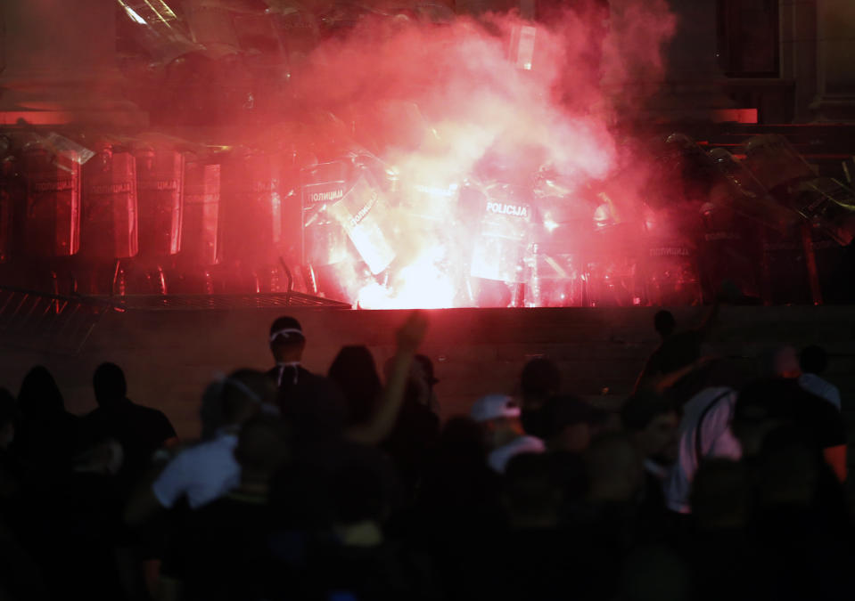
M 616 406 L 629 393 L 657 344 L 654 308 L 432 311 L 423 353 L 432 357 L 443 417 L 468 410 L 481 394 L 513 392 L 522 365 L 548 355 L 563 371 L 566 392 Z M 0 385 L 17 391 L 33 364 L 53 371 L 70 410 L 95 406 L 91 376 L 101 361 L 127 372 L 129 395 L 164 410 L 180 435 L 198 433 L 196 410 L 204 386 L 218 372 L 267 369 L 267 330 L 282 312 L 109 313 L 77 356 L 0 349 Z M 308 335 L 305 363 L 325 372 L 341 345 L 365 344 L 378 366 L 393 352 L 403 312 L 290 312 Z M 674 310 L 695 325 L 701 308 Z M 855 309 L 852 307 L 740 307 L 722 309 L 711 351 L 750 364 L 783 344 L 823 345 L 831 354 L 828 378 L 855 411 Z

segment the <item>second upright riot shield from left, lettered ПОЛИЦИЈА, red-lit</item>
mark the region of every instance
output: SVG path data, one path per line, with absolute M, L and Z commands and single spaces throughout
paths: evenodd
M 136 160 L 103 147 L 83 169 L 81 252 L 97 259 L 136 256 Z

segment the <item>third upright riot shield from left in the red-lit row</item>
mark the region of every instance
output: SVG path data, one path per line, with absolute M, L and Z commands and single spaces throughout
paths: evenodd
M 177 255 L 184 215 L 184 155 L 144 148 L 136 152 L 141 256 Z

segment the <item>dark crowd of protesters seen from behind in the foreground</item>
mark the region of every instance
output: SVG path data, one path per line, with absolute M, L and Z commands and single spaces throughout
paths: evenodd
M 35 367 L 0 390 L 0 598 L 850 598 L 826 353 L 711 357 L 714 309 L 698 329 L 656 315 L 616 413 L 539 358 L 440 422 L 418 312 L 382 370 L 347 346 L 326 376 L 276 320 L 275 367 L 212 382 L 193 443 L 117 365 L 84 417 Z

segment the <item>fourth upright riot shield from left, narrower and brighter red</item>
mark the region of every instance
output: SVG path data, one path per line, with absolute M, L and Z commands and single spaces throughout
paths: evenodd
M 220 166 L 185 163 L 181 256 L 185 263 L 208 267 L 220 261 Z

